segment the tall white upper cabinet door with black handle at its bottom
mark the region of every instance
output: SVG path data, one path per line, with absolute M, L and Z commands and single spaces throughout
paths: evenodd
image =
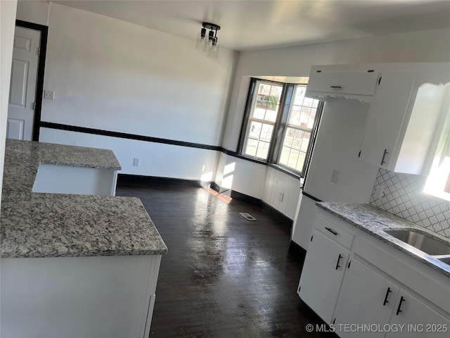
M 395 166 L 394 154 L 396 146 L 401 146 L 399 137 L 407 123 L 404 120 L 415 80 L 416 73 L 383 72 L 366 123 L 361 161 L 387 170 Z

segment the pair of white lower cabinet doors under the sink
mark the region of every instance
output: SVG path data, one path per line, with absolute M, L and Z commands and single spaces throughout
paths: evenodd
M 340 337 L 449 337 L 449 319 L 356 258 L 334 317 Z

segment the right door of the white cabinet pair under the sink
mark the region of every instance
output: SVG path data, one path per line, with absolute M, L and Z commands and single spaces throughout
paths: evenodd
M 450 318 L 419 301 L 404 290 L 400 290 L 391 318 L 391 327 L 399 327 L 398 332 L 387 332 L 386 337 L 449 337 Z

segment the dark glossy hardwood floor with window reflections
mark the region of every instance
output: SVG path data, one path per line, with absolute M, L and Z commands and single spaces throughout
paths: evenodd
M 117 187 L 164 239 L 150 337 L 337 337 L 297 296 L 304 253 L 257 206 L 203 188 Z M 239 213 L 250 213 L 256 221 Z

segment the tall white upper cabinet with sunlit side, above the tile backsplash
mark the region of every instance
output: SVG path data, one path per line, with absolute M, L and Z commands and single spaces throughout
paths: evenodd
M 359 159 L 396 173 L 428 175 L 450 103 L 449 63 L 383 70 Z

